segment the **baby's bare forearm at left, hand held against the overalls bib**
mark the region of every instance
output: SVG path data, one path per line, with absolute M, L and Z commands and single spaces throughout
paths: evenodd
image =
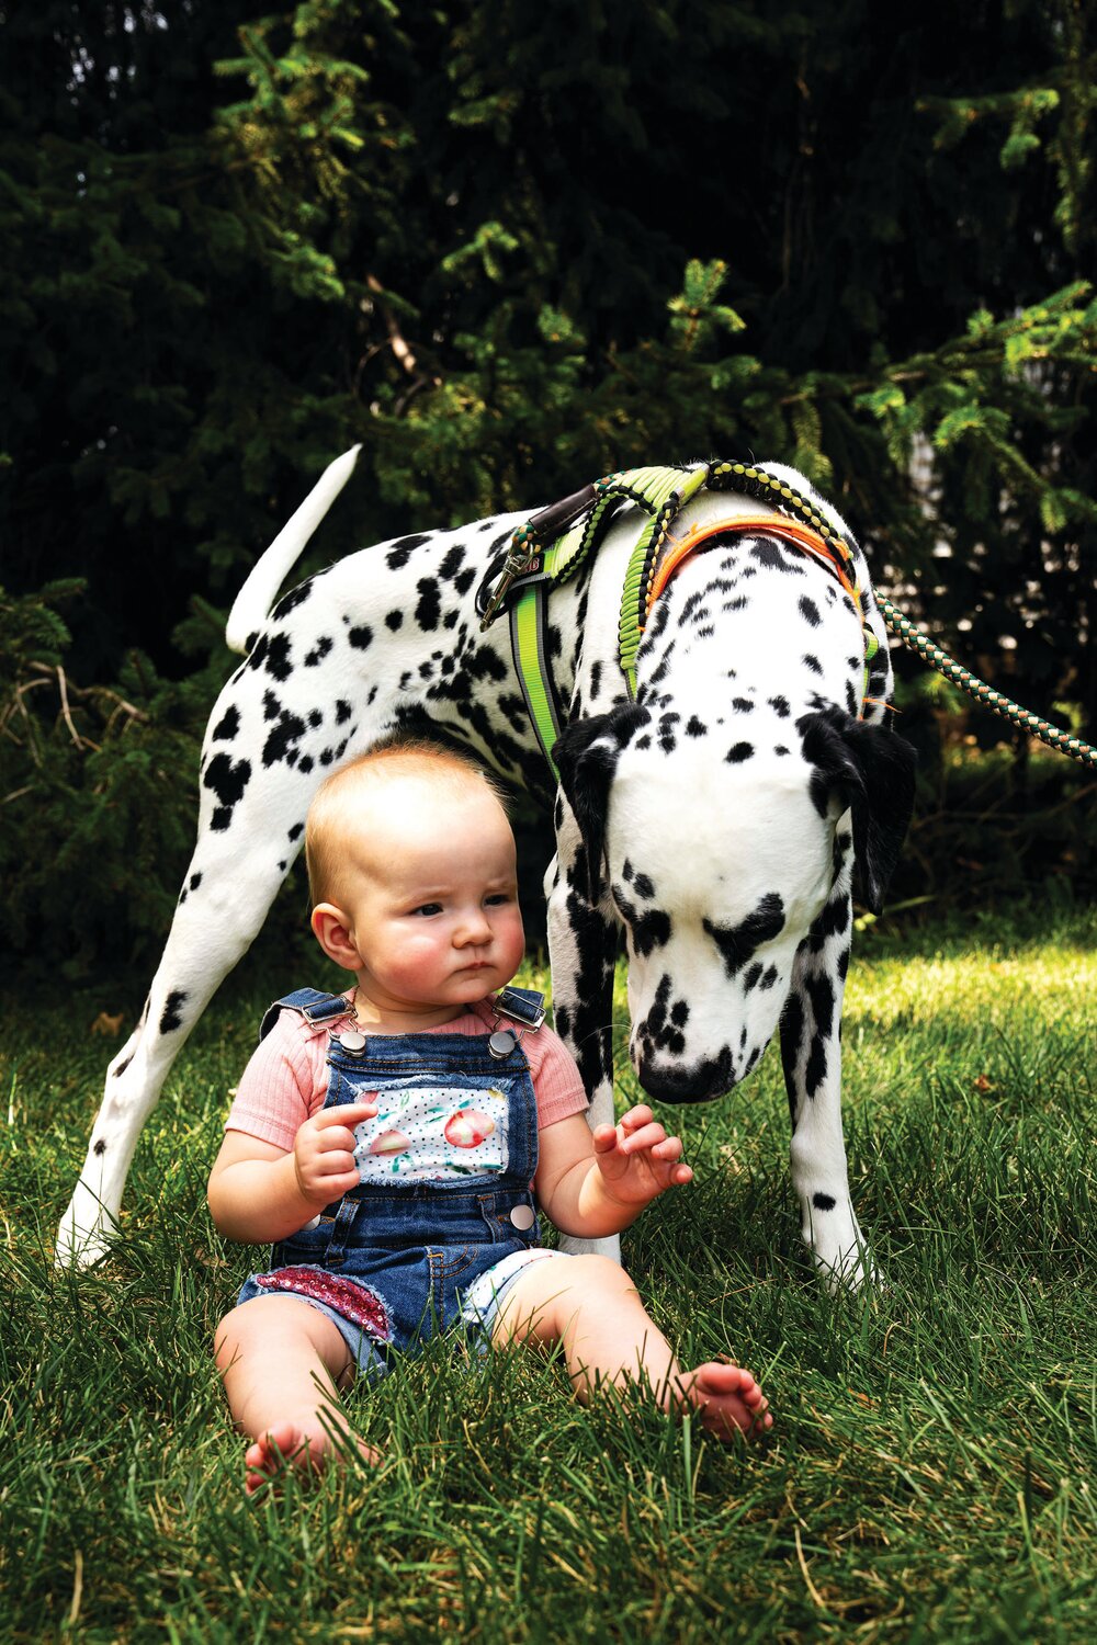
M 354 1125 L 373 1119 L 375 1101 L 321 1109 L 286 1153 L 247 1132 L 225 1132 L 209 1173 L 209 1211 L 225 1239 L 265 1245 L 304 1227 L 359 1184 Z

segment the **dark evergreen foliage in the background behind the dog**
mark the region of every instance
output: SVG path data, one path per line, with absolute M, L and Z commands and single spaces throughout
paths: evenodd
M 155 952 L 224 614 L 355 441 L 314 561 L 636 461 L 793 462 L 910 615 L 1092 740 L 1095 13 L 0 0 L 23 962 Z M 1085 773 L 975 763 L 1003 724 L 900 666 L 898 898 L 1092 895 Z

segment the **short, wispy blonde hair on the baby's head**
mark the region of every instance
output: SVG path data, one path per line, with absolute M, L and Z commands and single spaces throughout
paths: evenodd
M 339 869 L 344 864 L 342 841 L 355 798 L 365 788 L 396 775 L 426 776 L 449 793 L 467 791 L 470 785 L 487 785 L 507 811 L 503 790 L 470 753 L 431 742 L 428 737 L 410 737 L 401 732 L 386 737 L 357 760 L 340 765 L 312 796 L 304 821 L 304 864 L 309 872 L 312 908 L 329 901 L 336 893 Z

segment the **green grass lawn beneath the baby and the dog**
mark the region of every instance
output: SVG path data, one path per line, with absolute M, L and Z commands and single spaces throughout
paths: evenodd
M 0 1637 L 1092 1640 L 1094 923 L 859 943 L 845 1130 L 886 1290 L 829 1298 L 808 1268 L 776 1046 L 678 1112 L 697 1181 L 625 1257 L 686 1362 L 757 1372 L 766 1443 L 584 1411 L 556 1364 L 441 1344 L 350 1395 L 378 1469 L 258 1502 L 211 1362 L 255 1253 L 215 1235 L 204 1184 L 262 1007 L 324 977 L 225 990 L 145 1128 L 112 1260 L 79 1277 L 49 1252 L 113 1050 L 89 1026 L 122 1005 L 8 997 Z

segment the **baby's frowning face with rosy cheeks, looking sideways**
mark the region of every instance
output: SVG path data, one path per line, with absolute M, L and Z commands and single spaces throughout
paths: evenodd
M 337 901 L 385 1013 L 459 1008 L 510 982 L 525 952 L 515 839 L 487 785 L 378 786 L 349 841 Z

